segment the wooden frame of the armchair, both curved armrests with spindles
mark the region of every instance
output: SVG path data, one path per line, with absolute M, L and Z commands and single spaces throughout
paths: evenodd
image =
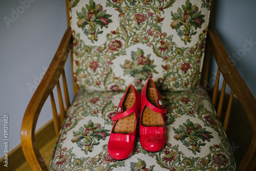
M 69 11 L 68 6 L 67 6 L 67 11 Z M 69 15 L 68 15 L 68 18 L 69 18 Z M 68 24 L 70 26 L 70 23 Z M 232 65 L 232 62 L 229 59 L 218 34 L 216 33 L 216 31 L 214 30 L 211 24 L 209 25 L 207 34 L 208 35 L 206 40 L 205 59 L 204 59 L 204 65 L 203 65 L 201 85 L 203 87 L 206 87 L 206 84 L 207 84 L 209 56 L 210 56 L 210 51 L 212 51 L 218 65 L 216 83 L 214 86 L 214 93 L 212 95 L 212 102 L 214 103 L 215 106 L 217 106 L 216 102 L 219 101 L 216 111 L 217 111 L 218 117 L 221 117 L 221 111 L 223 106 L 223 96 L 225 93 L 226 84 L 228 84 L 228 86 L 231 89 L 231 93 L 230 93 L 230 98 L 228 102 L 227 112 L 225 115 L 224 124 L 223 124 L 224 130 L 227 130 L 233 95 L 236 95 L 240 100 L 252 128 L 252 139 L 246 154 L 244 155 L 242 161 L 238 165 L 237 170 L 253 170 L 256 167 L 256 100 L 253 97 L 250 90 L 248 89 L 248 87 L 246 86 L 241 76 L 239 75 L 236 68 L 234 68 L 234 66 Z M 54 116 L 53 118 L 54 118 L 55 131 L 57 136 L 59 134 L 60 126 L 62 125 L 66 117 L 66 112 L 69 110 L 69 107 L 70 107 L 64 66 L 68 58 L 69 52 L 71 52 L 71 60 L 73 61 L 72 40 L 73 40 L 72 30 L 70 27 L 68 27 L 66 33 L 64 34 L 60 42 L 60 45 L 57 49 L 56 54 L 45 76 L 42 78 L 42 81 L 39 83 L 35 93 L 33 94 L 24 115 L 22 130 L 21 130 L 22 148 L 23 148 L 24 155 L 30 167 L 32 168 L 32 170 L 48 170 L 44 159 L 42 159 L 42 156 L 38 151 L 38 148 L 35 144 L 35 138 L 34 138 L 37 119 L 39 117 L 40 111 L 45 101 L 50 96 L 51 103 L 52 103 L 52 111 Z M 72 64 L 72 67 L 73 67 L 73 64 Z M 217 100 L 220 74 L 222 74 L 224 81 L 223 81 L 220 98 L 219 100 Z M 64 89 L 63 91 L 64 91 L 64 96 L 66 101 L 66 109 L 62 100 L 62 95 L 61 95 L 60 86 L 59 86 L 59 78 L 61 75 L 63 80 L 63 89 Z M 73 75 L 73 83 L 74 83 L 74 93 L 76 93 L 76 91 L 78 90 L 78 87 L 75 84 L 74 75 Z M 55 86 L 57 87 L 57 93 L 58 93 L 61 123 L 59 123 L 58 121 L 55 100 L 52 92 Z

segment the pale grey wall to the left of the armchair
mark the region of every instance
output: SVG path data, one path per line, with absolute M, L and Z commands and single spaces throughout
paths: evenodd
M 27 3 L 22 5 L 20 2 Z M 19 16 L 15 16 L 13 11 L 19 12 Z M 20 144 L 20 127 L 35 92 L 33 86 L 37 87 L 67 29 L 66 16 L 64 0 L 0 1 L 0 157 L 5 155 L 3 115 L 9 116 L 8 151 L 11 151 Z M 71 83 L 68 86 L 72 88 L 70 59 L 68 62 L 66 75 Z M 73 90 L 70 91 L 70 98 L 73 99 Z M 38 119 L 37 128 L 51 119 L 51 104 L 48 100 Z

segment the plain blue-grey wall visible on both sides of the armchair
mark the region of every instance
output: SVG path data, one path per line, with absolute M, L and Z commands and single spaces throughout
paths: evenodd
M 29 7 L 20 7 L 22 6 L 20 1 L 29 1 Z M 229 55 L 243 49 L 246 44 L 245 39 L 256 42 L 255 7 L 255 1 L 217 0 L 215 28 Z M 21 14 L 12 16 L 13 11 L 18 10 Z M 9 27 L 5 17 L 14 18 L 13 23 L 9 23 Z M 9 116 L 10 151 L 20 143 L 23 115 L 35 91 L 35 89 L 30 90 L 27 84 L 36 86 L 37 77 L 40 77 L 50 65 L 67 29 L 65 1 L 1 0 L 0 21 L 0 157 L 3 157 L 5 154 L 2 143 L 3 115 Z M 245 51 L 244 56 L 234 60 L 235 67 L 254 97 L 256 97 L 255 54 L 256 45 L 253 45 L 250 50 Z M 68 62 L 66 74 L 71 83 L 71 74 L 68 75 L 71 73 L 70 59 Z M 216 67 L 212 70 L 216 70 Z M 68 86 L 72 88 L 72 84 Z M 70 98 L 73 99 L 73 91 L 70 91 Z M 37 127 L 44 125 L 51 118 L 52 111 L 48 100 L 42 109 Z

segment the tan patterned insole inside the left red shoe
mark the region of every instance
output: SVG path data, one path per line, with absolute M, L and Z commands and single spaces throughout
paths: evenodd
M 127 92 L 124 100 L 123 100 L 123 112 L 130 109 L 133 104 L 135 103 L 135 94 L 134 92 L 129 93 Z M 132 113 L 124 118 L 118 119 L 115 127 L 113 129 L 113 133 L 120 133 L 120 134 L 129 134 L 135 131 L 136 127 L 136 118 L 135 114 Z

